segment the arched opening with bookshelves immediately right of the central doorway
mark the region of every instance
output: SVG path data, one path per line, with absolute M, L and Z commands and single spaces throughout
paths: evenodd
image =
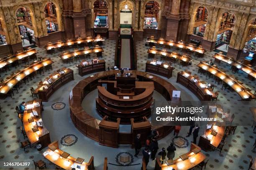
M 144 29 L 157 29 L 159 19 L 159 3 L 149 1 L 145 5 Z

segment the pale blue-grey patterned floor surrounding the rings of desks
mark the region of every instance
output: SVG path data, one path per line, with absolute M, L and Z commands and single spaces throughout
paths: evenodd
M 147 48 L 145 47 L 145 41 L 137 41 L 137 56 L 138 56 L 138 70 L 145 71 L 145 63 L 147 61 Z M 103 58 L 106 60 L 106 67 L 113 67 L 114 65 L 114 56 L 115 56 L 115 40 L 106 40 L 104 42 L 103 48 L 105 52 L 103 53 Z M 72 146 L 60 145 L 60 148 L 74 157 L 84 158 L 85 161 L 90 159 L 90 156 L 93 155 L 95 158 L 95 168 L 101 170 L 103 167 L 104 157 L 108 157 L 108 162 L 115 163 L 115 156 L 120 152 L 129 152 L 132 155 L 134 150 L 129 146 L 122 145 L 119 148 L 109 148 L 101 146 L 98 143 L 90 140 L 89 138 L 82 135 L 73 125 L 69 116 L 69 107 L 66 105 L 62 110 L 53 110 L 51 105 L 55 102 L 64 102 L 68 104 L 68 97 L 70 90 L 79 82 L 79 80 L 84 79 L 84 77 L 90 76 L 86 75 L 81 77 L 78 75 L 77 67 L 75 63 L 66 64 L 62 63 L 60 58 L 57 56 L 57 53 L 54 55 L 46 54 L 46 51 L 43 48 L 37 48 L 38 56 L 47 56 L 51 57 L 54 61 L 53 69 L 57 70 L 61 67 L 69 67 L 74 70 L 74 81 L 67 83 L 59 90 L 57 90 L 50 98 L 49 102 L 44 102 L 44 112 L 42 119 L 46 125 L 47 130 L 50 132 L 51 141 L 61 140 L 65 135 L 72 134 L 77 137 L 77 142 Z M 72 50 L 72 49 L 70 49 Z M 200 59 L 193 58 L 192 65 L 188 67 L 179 67 L 178 64 L 175 64 L 176 68 L 173 72 L 173 77 L 168 79 L 178 90 L 182 91 L 181 97 L 186 100 L 198 100 L 192 92 L 187 90 L 182 85 L 176 83 L 177 72 L 180 70 L 190 70 L 193 74 L 197 74 L 197 63 L 199 60 L 210 60 L 213 52 L 206 52 L 205 56 Z M 160 58 L 159 58 L 160 59 Z M 224 68 L 231 74 L 229 66 L 226 66 L 224 63 L 218 64 L 218 66 Z M 22 69 L 22 66 L 17 69 Z M 1 73 L 2 78 L 7 77 L 10 72 L 15 71 L 15 68 L 11 68 L 7 73 Z M 19 126 L 20 120 L 17 118 L 17 113 L 15 111 L 15 106 L 19 105 L 22 101 L 31 100 L 31 92 L 29 87 L 36 87 L 36 84 L 39 80 L 42 80 L 44 77 L 47 77 L 50 72 L 45 72 L 44 75 L 37 75 L 34 80 L 30 81 L 27 85 L 21 85 L 19 92 L 15 92 L 15 96 L 11 99 L 10 97 L 5 100 L 1 100 L 2 113 L 0 113 L 0 169 L 34 169 L 32 160 L 44 160 L 46 162 L 47 169 L 54 169 L 54 165 L 49 161 L 45 160 L 41 156 L 41 152 L 38 152 L 33 146 L 28 149 L 26 152 L 20 148 L 20 143 L 18 139 L 23 140 L 23 136 L 20 134 Z M 199 75 L 201 80 L 206 82 L 213 82 L 213 79 L 205 78 L 205 75 Z M 245 85 L 253 90 L 255 90 L 255 82 L 248 80 L 247 75 L 243 72 L 236 73 L 236 76 L 245 83 Z M 230 92 L 229 90 L 221 90 L 221 85 L 216 85 L 215 90 L 220 91 L 218 100 L 220 102 L 231 105 L 234 101 L 240 100 L 239 95 L 236 92 Z M 84 100 L 90 100 L 85 98 Z M 239 113 L 243 113 L 243 110 L 238 110 Z M 187 135 L 189 127 L 182 127 L 180 136 L 185 137 Z M 200 134 L 202 134 L 202 130 Z M 207 163 L 206 169 L 211 170 L 239 170 L 239 169 L 248 169 L 249 160 L 256 156 L 256 151 L 253 150 L 253 143 L 256 138 L 256 131 L 253 132 L 251 126 L 238 126 L 235 135 L 229 135 L 227 138 L 227 144 L 224 146 L 223 151 L 219 154 L 218 151 L 207 152 Z M 173 138 L 173 134 L 166 136 L 166 138 L 159 140 L 159 148 L 167 147 L 170 141 Z M 192 140 L 192 137 L 187 138 L 188 142 Z M 44 148 L 45 150 L 46 148 Z M 175 159 L 184 153 L 187 153 L 189 147 L 187 148 L 177 148 Z M 142 154 L 138 155 L 138 158 L 134 158 L 132 164 L 141 163 Z M 8 166 L 4 167 L 4 162 L 29 162 L 29 166 L 24 167 L 13 167 Z M 154 169 L 154 161 L 150 161 L 148 164 L 148 170 Z M 110 170 L 139 170 L 140 165 L 131 166 L 131 167 L 117 167 L 114 165 L 109 165 Z

